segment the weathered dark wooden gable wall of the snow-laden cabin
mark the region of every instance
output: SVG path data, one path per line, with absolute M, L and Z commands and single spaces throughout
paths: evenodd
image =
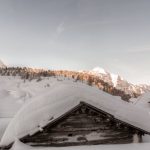
M 142 142 L 148 132 L 86 102 L 20 140 L 32 146 L 72 146 Z

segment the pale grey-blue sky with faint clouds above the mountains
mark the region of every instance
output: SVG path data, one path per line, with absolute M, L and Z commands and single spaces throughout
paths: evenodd
M 150 84 L 150 1 L 0 0 L 0 59 Z

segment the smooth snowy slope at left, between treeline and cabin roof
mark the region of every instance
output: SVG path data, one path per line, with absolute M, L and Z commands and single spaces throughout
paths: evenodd
M 0 76 L 0 118 L 11 118 L 33 97 L 49 90 L 55 78 L 45 78 L 40 82 L 24 80 L 20 77 Z

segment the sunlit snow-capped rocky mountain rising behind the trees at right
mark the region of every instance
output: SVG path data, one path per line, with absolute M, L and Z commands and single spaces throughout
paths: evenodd
M 109 83 L 109 85 L 112 85 L 119 90 L 125 91 L 127 94 L 135 92 L 140 95 L 147 91 L 150 91 L 150 85 L 134 85 L 132 83 L 129 83 L 120 75 L 110 73 L 100 67 L 96 67 L 93 70 L 85 72 L 99 77 L 100 79 L 104 80 L 104 82 Z

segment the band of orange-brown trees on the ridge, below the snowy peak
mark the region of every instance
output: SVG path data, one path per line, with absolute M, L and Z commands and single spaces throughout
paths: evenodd
M 138 93 L 133 92 L 132 94 L 127 94 L 123 90 L 119 90 L 109 83 L 105 82 L 103 79 L 84 72 L 75 72 L 75 71 L 51 71 L 51 70 L 42 70 L 42 69 L 32 69 L 32 68 L 20 68 L 20 67 L 9 67 L 0 69 L 1 76 L 20 76 L 21 79 L 32 81 L 36 79 L 41 80 L 41 77 L 51 77 L 51 76 L 62 76 L 65 78 L 73 79 L 76 82 L 80 81 L 90 86 L 96 86 L 100 90 L 103 90 L 109 94 L 120 96 L 123 100 L 128 101 L 131 97 L 139 96 Z

